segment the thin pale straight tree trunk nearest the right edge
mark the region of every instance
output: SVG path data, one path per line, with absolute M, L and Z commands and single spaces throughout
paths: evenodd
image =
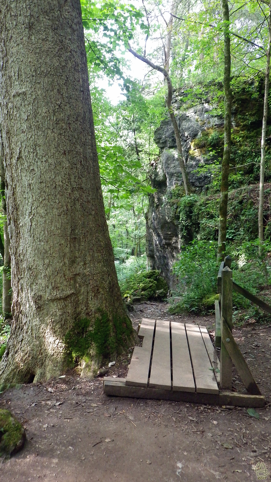
M 268 46 L 266 52 L 266 70 L 265 70 L 265 89 L 263 103 L 263 119 L 261 133 L 261 161 L 260 161 L 260 186 L 259 186 L 259 254 L 262 254 L 263 243 L 263 202 L 264 202 L 264 166 L 265 166 L 265 139 L 266 139 L 266 123 L 268 112 L 268 94 L 269 94 L 269 77 L 270 77 L 270 55 L 271 55 L 271 2 L 269 3 L 268 16 Z

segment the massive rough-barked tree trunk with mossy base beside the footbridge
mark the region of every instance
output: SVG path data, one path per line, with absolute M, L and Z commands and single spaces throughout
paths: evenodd
M 65 335 L 77 339 L 82 320 L 93 356 L 115 355 L 133 331 L 104 214 L 80 1 L 0 0 L 0 11 L 13 286 L 0 383 L 44 381 L 65 368 Z

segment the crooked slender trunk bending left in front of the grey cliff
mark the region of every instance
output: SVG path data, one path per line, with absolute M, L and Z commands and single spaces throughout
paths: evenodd
M 140 55 L 140 54 L 137 54 L 137 52 L 132 50 L 130 46 L 129 46 L 128 50 L 131 54 L 133 54 L 134 57 L 138 58 L 139 60 L 142 60 L 142 62 L 145 62 L 145 64 L 149 65 L 153 69 L 161 72 L 164 75 L 165 79 L 167 80 L 167 84 L 168 84 L 167 107 L 168 107 L 168 112 L 169 112 L 170 119 L 171 119 L 171 122 L 172 122 L 172 125 L 173 125 L 174 134 L 175 134 L 175 137 L 176 137 L 176 144 L 177 144 L 177 150 L 178 150 L 178 161 L 179 161 L 179 165 L 180 165 L 180 168 L 181 168 L 183 186 L 184 186 L 185 194 L 186 194 L 186 196 L 188 196 L 190 194 L 191 187 L 190 187 L 190 184 L 189 184 L 188 174 L 187 174 L 186 166 L 185 166 L 183 155 L 182 155 L 181 136 L 180 136 L 177 120 L 176 120 L 176 117 L 175 117 L 175 114 L 174 114 L 174 110 L 173 110 L 173 107 L 172 107 L 172 83 L 171 83 L 171 79 L 170 79 L 170 77 L 168 75 L 168 72 L 165 68 L 160 67 L 158 65 L 155 65 L 155 64 L 153 64 L 153 62 L 151 62 L 147 58 L 142 57 L 142 55 Z

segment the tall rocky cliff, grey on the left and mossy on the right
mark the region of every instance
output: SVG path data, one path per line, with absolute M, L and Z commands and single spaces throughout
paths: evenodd
M 217 87 L 218 90 L 218 87 Z M 262 122 L 262 82 L 248 83 L 234 96 L 232 106 L 232 187 L 234 182 L 257 182 L 260 159 L 260 131 Z M 221 93 L 220 93 L 221 94 Z M 173 106 L 181 133 L 183 156 L 194 193 L 207 192 L 213 183 L 214 169 L 218 178 L 223 155 L 223 99 L 215 101 L 208 92 L 190 102 L 186 93 L 175 93 Z M 193 97 L 193 94 L 192 94 Z M 189 93 L 191 99 L 191 92 Z M 193 104 L 193 105 L 191 105 Z M 180 220 L 180 199 L 184 195 L 177 146 L 171 121 L 163 120 L 155 131 L 155 143 L 160 149 L 159 159 L 152 165 L 151 184 L 156 192 L 149 197 L 146 215 L 146 252 L 150 268 L 161 270 L 172 287 L 171 268 L 181 246 L 198 236 L 197 228 L 183 235 Z M 251 161 L 252 160 L 252 161 Z M 257 164 L 257 165 L 256 165 Z M 215 167 L 217 166 L 217 167 Z M 240 173 L 241 171 L 241 173 Z M 244 179 L 246 180 L 244 181 Z M 178 196 L 176 196 L 176 193 Z M 176 202 L 173 202 L 175 199 Z M 179 201 L 178 201 L 179 200 Z

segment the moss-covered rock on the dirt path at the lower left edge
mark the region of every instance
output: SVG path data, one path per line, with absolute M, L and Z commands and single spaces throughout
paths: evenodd
M 25 444 L 26 431 L 8 410 L 0 410 L 0 457 L 10 457 Z

